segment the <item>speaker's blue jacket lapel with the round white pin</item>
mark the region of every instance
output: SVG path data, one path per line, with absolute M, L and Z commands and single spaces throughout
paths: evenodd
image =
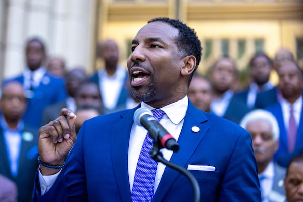
M 189 158 L 192 156 L 196 147 L 199 145 L 200 141 L 203 139 L 209 129 L 207 125 L 203 124 L 203 122 L 205 121 L 207 121 L 207 118 L 204 112 L 196 109 L 189 102 L 188 109 L 184 118 L 183 127 L 178 139 L 180 150 L 177 153 L 173 153 L 170 162 L 187 168 L 186 164 Z M 191 129 L 193 126 L 197 126 L 200 131 L 196 133 L 193 132 Z M 177 179 L 179 174 L 179 172 L 169 167 L 165 168 L 153 201 L 163 200 L 163 197 L 165 196 L 171 185 L 174 183 L 174 181 Z

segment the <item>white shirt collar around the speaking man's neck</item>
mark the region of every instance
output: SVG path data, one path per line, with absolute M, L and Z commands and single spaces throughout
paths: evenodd
M 149 109 L 155 109 L 146 103 L 142 102 L 141 107 L 146 107 Z M 174 124 L 179 124 L 182 119 L 184 119 L 186 111 L 188 107 L 188 98 L 187 95 L 183 98 L 178 100 L 175 103 L 169 104 L 167 106 L 164 106 L 163 108 L 160 108 L 165 112 L 165 114 L 168 116 L 168 118 L 174 123 Z M 176 111 L 178 109 L 178 111 Z

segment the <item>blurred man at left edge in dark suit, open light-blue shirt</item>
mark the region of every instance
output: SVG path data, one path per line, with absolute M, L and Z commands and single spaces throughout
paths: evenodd
M 0 174 L 14 181 L 18 201 L 31 201 L 35 170 L 38 168 L 38 131 L 22 120 L 27 100 L 22 84 L 11 81 L 2 86 L 0 97 Z M 0 182 L 1 183 L 1 182 Z M 0 189 L 2 187 L 0 186 Z M 1 199 L 1 198 L 0 198 Z M 5 200 L 0 200 L 5 201 Z

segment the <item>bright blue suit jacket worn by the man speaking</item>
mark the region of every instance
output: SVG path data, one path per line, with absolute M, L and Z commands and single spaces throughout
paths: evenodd
M 33 201 L 131 201 L 128 142 L 136 108 L 84 122 L 55 184 Z M 192 127 L 200 131 L 195 133 Z M 257 165 L 249 133 L 237 124 L 195 108 L 189 101 L 178 139 L 180 150 L 170 159 L 215 166 L 215 171 L 192 171 L 201 201 L 261 201 Z M 66 187 L 66 188 L 65 188 Z M 190 182 L 166 167 L 153 201 L 193 201 Z

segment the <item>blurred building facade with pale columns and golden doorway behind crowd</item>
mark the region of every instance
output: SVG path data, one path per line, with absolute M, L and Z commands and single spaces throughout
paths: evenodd
M 204 72 L 229 55 L 245 71 L 256 51 L 273 57 L 292 51 L 303 66 L 303 0 L 1 0 L 0 80 L 25 68 L 24 44 L 41 37 L 49 55 L 63 56 L 67 67 L 88 73 L 102 66 L 96 43 L 116 40 L 125 66 L 137 31 L 154 17 L 179 18 L 202 41 Z

